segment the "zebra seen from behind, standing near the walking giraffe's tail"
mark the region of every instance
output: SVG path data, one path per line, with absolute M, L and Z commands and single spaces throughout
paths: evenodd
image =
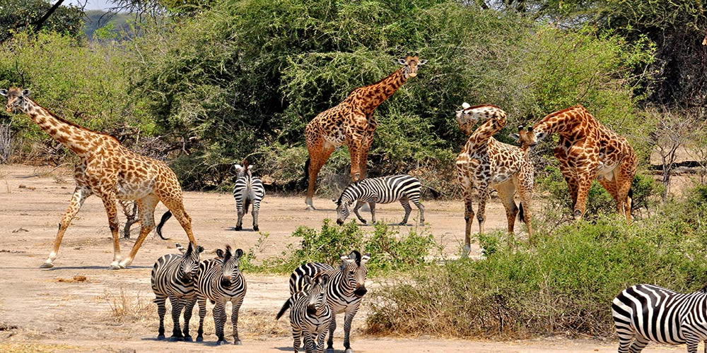
M 243 215 L 248 213 L 248 206 L 253 204 L 253 230 L 258 231 L 258 212 L 260 201 L 265 197 L 263 183 L 258 177 L 252 176 L 253 166 L 248 168 L 248 161 L 243 160 L 243 166 L 235 164 L 235 171 L 238 172 L 238 179 L 233 186 L 233 198 L 235 198 L 235 209 L 238 211 L 238 223 L 235 230 L 243 229 Z

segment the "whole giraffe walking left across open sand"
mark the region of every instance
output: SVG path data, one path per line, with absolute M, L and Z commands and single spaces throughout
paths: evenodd
M 182 203 L 182 188 L 177 176 L 167 164 L 137 155 L 120 145 L 112 136 L 83 128 L 49 112 L 30 99 L 29 90 L 10 88 L 0 90 L 0 95 L 7 97 L 7 112 L 24 112 L 42 130 L 74 151 L 81 159 L 74 172 L 74 195 L 59 222 L 54 248 L 41 268 L 54 266 L 54 259 L 57 258 L 66 228 L 81 209 L 83 201 L 93 194 L 101 198 L 108 215 L 108 226 L 113 237 L 111 269 L 125 268 L 132 263 L 147 234 L 155 227 L 155 207 L 160 201 L 177 217 L 187 232 L 189 241 L 196 246 L 192 234 L 192 220 Z M 141 217 L 140 235 L 127 258 L 121 261 L 116 203 L 132 200 L 136 201 Z

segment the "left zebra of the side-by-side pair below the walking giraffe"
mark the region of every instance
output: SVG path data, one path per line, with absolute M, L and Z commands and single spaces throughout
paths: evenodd
M 199 253 L 204 251 L 204 248 L 197 246 L 197 249 L 192 249 L 192 243 L 189 243 L 186 250 L 180 244 L 177 244 L 177 249 L 182 253 L 168 253 L 158 258 L 152 268 L 152 291 L 155 292 L 157 314 L 160 316 L 157 339 L 165 339 L 165 311 L 167 311 L 165 299 L 169 298 L 172 303 L 172 321 L 174 323 L 170 341 L 182 339 L 191 341 L 189 320 L 192 318 L 192 309 L 197 302 L 196 292 L 194 292 L 194 276 L 199 268 Z M 184 309 L 183 335 L 179 324 L 182 308 Z

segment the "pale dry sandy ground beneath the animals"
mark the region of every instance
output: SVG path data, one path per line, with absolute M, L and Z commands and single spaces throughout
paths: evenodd
M 47 167 L 0 165 L 0 352 L 99 351 L 119 352 L 291 352 L 291 336 L 286 319 L 274 321 L 274 314 L 288 298 L 286 276 L 245 273 L 248 292 L 240 314 L 243 346 L 216 347 L 211 311 L 207 314 L 204 342 L 158 342 L 156 306 L 149 285 L 156 258 L 175 252 L 174 243 L 187 243 L 175 220 L 168 222 L 163 241 L 149 236 L 132 266 L 107 270 L 112 260 L 110 232 L 100 200 L 88 198 L 81 213 L 69 227 L 59 258 L 51 269 L 40 269 L 56 234 L 59 217 L 66 209 L 74 182 L 68 169 L 49 172 Z M 426 201 L 426 222 L 445 252 L 457 253 L 463 241 L 462 203 Z M 335 217 L 331 201 L 316 199 L 317 211 L 306 211 L 303 197 L 268 196 L 260 213 L 260 229 L 268 232 L 259 256 L 276 256 L 296 243 L 291 237 L 296 227 L 318 228 L 325 217 Z M 250 230 L 234 232 L 233 199 L 223 193 L 185 193 L 185 207 L 192 216 L 199 244 L 209 250 L 224 244 L 242 249 L 254 247 L 259 234 Z M 397 204 L 377 208 L 379 218 L 398 222 L 402 208 Z M 165 208 L 158 206 L 157 217 Z M 412 214 L 416 217 L 416 213 Z M 500 203 L 487 210 L 489 229 L 504 228 L 505 214 Z M 134 226 L 134 231 L 139 225 Z M 403 230 L 404 231 L 404 230 Z M 135 234 L 135 232 L 133 234 Z M 133 237 L 134 238 L 134 237 Z M 123 253 L 132 241 L 121 242 Z M 478 247 L 472 253 L 478 255 Z M 85 276 L 85 280 L 74 276 Z M 375 287 L 369 281 L 368 287 Z M 443 340 L 436 337 L 368 337 L 365 325 L 366 301 L 354 321 L 352 346 L 356 352 L 616 352 L 616 343 L 595 340 L 545 338 L 513 342 Z M 198 323 L 195 312 L 192 332 Z M 341 349 L 342 318 L 335 335 Z M 169 335 L 170 315 L 165 318 Z M 230 325 L 227 326 L 228 337 Z M 644 352 L 682 351 L 682 347 L 652 345 Z M 341 352 L 338 351 L 337 352 Z

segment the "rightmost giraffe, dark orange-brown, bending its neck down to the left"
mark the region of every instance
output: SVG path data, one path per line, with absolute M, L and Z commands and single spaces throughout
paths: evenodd
M 582 105 L 545 116 L 533 126 L 537 140 L 559 135 L 555 157 L 572 198 L 573 217 L 584 217 L 587 195 L 598 179 L 617 202 L 619 214 L 631 222 L 631 183 L 638 157 L 623 136 L 597 121 Z

